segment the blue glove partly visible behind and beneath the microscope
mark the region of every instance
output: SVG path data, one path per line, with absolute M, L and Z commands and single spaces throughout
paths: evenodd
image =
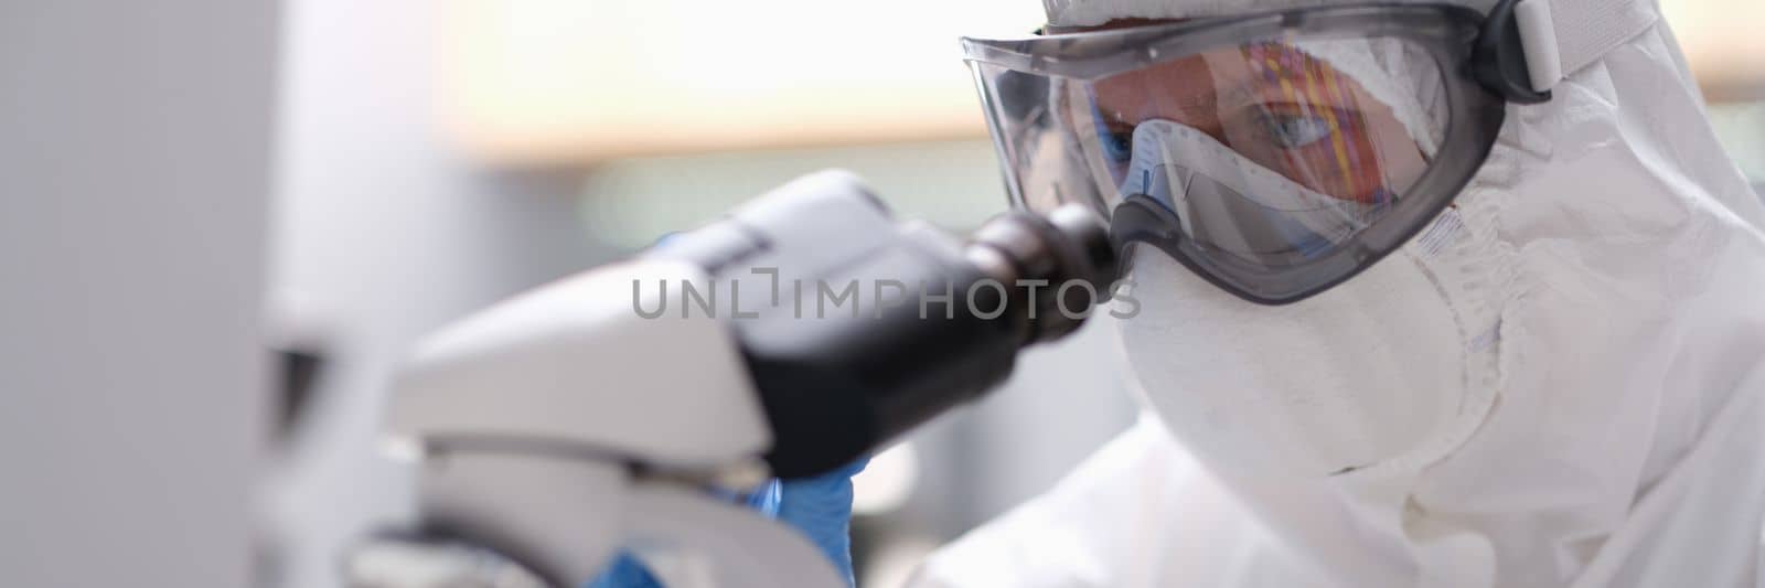
M 747 496 L 747 503 L 754 510 L 808 535 L 808 540 L 833 562 L 833 569 L 845 576 L 845 584 L 854 586 L 852 477 L 865 471 L 868 463 L 870 457 L 865 457 L 814 479 L 771 480 Z M 621 553 L 600 577 L 584 588 L 662 588 L 662 583 L 637 558 Z

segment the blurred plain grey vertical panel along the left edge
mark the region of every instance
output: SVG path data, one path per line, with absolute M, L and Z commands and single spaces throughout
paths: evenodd
M 249 583 L 275 16 L 0 4 L 0 586 Z

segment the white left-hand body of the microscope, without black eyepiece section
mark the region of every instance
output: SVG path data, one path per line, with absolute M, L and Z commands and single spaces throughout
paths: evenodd
M 422 443 L 425 524 L 469 528 L 570 586 L 646 542 L 720 562 L 718 584 L 838 586 L 801 537 L 690 487 L 757 482 L 771 433 L 727 325 L 641 318 L 634 281 L 708 277 L 667 260 L 597 268 L 471 316 L 417 351 L 390 433 Z M 660 291 L 646 295 L 635 302 L 664 304 Z

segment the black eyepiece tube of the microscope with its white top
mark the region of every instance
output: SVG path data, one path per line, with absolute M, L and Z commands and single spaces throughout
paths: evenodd
M 784 479 L 844 466 L 978 397 L 1022 348 L 1075 332 L 1115 281 L 1108 230 L 1084 205 L 1008 212 L 960 240 L 897 222 L 844 173 L 796 180 L 653 254 L 727 290 L 771 286 L 771 305 L 732 327 Z M 778 295 L 789 284 L 794 300 Z M 838 291 L 858 302 L 840 307 Z

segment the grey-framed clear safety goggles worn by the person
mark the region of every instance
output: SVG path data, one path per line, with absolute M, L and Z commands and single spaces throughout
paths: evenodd
M 1525 83 L 1513 28 L 1456 5 L 964 48 L 1015 207 L 1085 203 L 1123 260 L 1147 244 L 1258 304 L 1317 295 L 1398 249 L 1483 166 L 1506 102 L 1548 99 Z

